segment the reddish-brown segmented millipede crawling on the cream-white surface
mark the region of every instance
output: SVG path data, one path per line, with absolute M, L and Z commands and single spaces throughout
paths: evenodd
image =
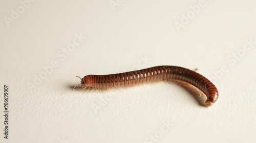
M 207 97 L 207 100 L 204 102 L 205 106 L 211 106 L 219 97 L 216 86 L 206 77 L 193 70 L 177 66 L 157 66 L 108 75 L 86 75 L 80 79 L 82 89 L 92 88 L 93 90 L 137 85 L 151 81 L 176 79 L 194 85 L 194 87 L 203 92 Z M 75 85 L 72 90 L 74 90 L 78 85 L 79 84 Z

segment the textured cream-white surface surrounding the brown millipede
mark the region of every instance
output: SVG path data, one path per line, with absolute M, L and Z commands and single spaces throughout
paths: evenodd
M 174 22 L 199 1 L 118 2 L 113 10 L 108 0 L 36 1 L 9 27 L 4 17 L 21 4 L 0 2 L 1 115 L 3 85 L 10 86 L 9 139 L 0 116 L 0 142 L 256 142 L 256 44 L 227 61 L 245 39 L 256 41 L 255 1 L 205 1 L 180 32 Z M 66 59 L 57 56 L 80 33 L 87 39 Z M 30 92 L 27 84 L 54 60 L 59 66 Z M 167 82 L 71 91 L 76 75 L 158 65 L 198 68 L 208 78 L 224 65 L 228 72 L 209 108 Z

